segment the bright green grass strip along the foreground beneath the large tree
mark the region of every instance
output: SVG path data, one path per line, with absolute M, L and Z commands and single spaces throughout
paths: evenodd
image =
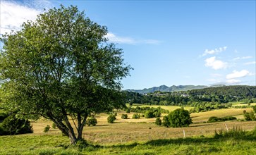
M 256 136 L 254 134 L 254 136 Z M 194 137 L 151 140 L 85 149 L 68 147 L 68 138 L 54 135 L 0 137 L 0 154 L 256 154 L 256 137 Z

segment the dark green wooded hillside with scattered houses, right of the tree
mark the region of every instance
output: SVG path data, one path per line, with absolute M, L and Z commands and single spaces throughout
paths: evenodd
M 231 102 L 240 101 L 246 105 L 256 102 L 255 86 L 225 86 L 193 89 L 181 92 L 154 92 L 139 94 L 124 92 L 126 102 L 132 104 L 162 105 L 162 106 L 193 106 L 191 112 L 225 109 L 231 107 Z

